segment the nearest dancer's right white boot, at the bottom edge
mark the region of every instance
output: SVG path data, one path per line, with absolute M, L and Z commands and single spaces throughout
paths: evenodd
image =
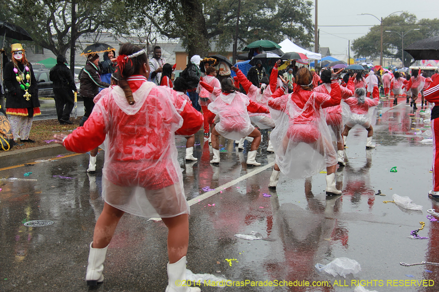
M 186 256 L 174 264 L 168 262 L 168 286 L 165 292 L 201 292 L 198 287 L 188 287 L 186 281 Z M 183 286 L 185 285 L 185 286 Z

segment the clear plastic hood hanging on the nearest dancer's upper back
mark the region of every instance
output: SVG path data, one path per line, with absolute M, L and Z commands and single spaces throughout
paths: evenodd
M 154 86 L 155 84 L 153 82 L 148 82 L 148 81 L 143 82 L 140 88 L 133 93 L 135 104 L 132 106 L 128 104 L 125 97 L 125 93 L 120 88 L 120 86 L 115 86 L 114 89 L 111 91 L 111 94 L 113 95 L 113 99 L 116 102 L 116 104 L 119 106 L 120 110 L 122 110 L 124 113 L 128 115 L 134 115 L 143 106 L 146 97 L 148 96 L 149 92 L 153 89 Z

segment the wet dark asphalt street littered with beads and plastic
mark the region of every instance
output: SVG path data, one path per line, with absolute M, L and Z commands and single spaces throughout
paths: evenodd
M 256 157 L 262 165 L 253 168 L 245 163 L 250 148 L 247 142 L 244 152 L 238 152 L 233 141 L 221 138 L 224 149 L 216 167 L 209 163 L 213 154 L 202 132 L 196 135 L 196 163 L 184 162 L 185 139 L 177 139 L 191 204 L 187 268 L 194 274 L 232 281 L 260 281 L 261 285 L 264 281 L 266 285 L 268 281 L 272 285 L 291 281 L 293 285 L 201 285 L 201 291 L 352 292 L 360 280 L 370 291 L 439 291 L 439 266 L 399 264 L 439 262 L 439 221 L 426 218 L 427 209 L 439 212 L 439 202 L 427 197 L 432 189 L 432 144 L 421 143 L 426 137 L 419 134 L 430 129 L 429 119 L 421 121 L 420 106 L 412 115 L 405 98 L 395 108 L 391 104 L 384 101 L 377 110 L 375 149 L 365 150 L 366 130 L 350 131 L 347 165 L 337 171 L 337 185 L 343 193 L 336 197 L 325 196 L 325 174 L 306 180 L 281 174 L 277 191 L 269 191 L 275 155 L 265 151 L 266 130 L 262 130 Z M 88 154 L 52 159 L 0 170 L 0 178 L 37 180 L 0 181 L 1 292 L 88 291 L 84 281 L 88 246 L 103 206 L 103 152 L 98 155 L 95 175 L 85 171 Z M 398 172 L 390 172 L 395 166 Z M 27 172 L 32 174 L 25 177 Z M 205 187 L 215 191 L 203 190 Z M 378 190 L 385 196 L 375 195 Z M 393 194 L 410 197 L 423 206 L 422 211 L 383 203 L 392 201 Z M 54 223 L 25 226 L 30 220 Z M 420 221 L 425 226 L 419 236 L 429 239 L 410 238 L 410 232 L 421 227 Z M 263 239 L 235 237 L 252 231 Z M 124 215 L 108 248 L 105 280 L 96 291 L 164 291 L 166 234 L 161 221 Z M 317 263 L 328 264 L 338 257 L 356 260 L 361 271 L 343 278 L 316 270 Z M 424 279 L 433 281 L 422 282 Z M 303 287 L 303 281 L 310 285 L 329 281 L 329 287 Z

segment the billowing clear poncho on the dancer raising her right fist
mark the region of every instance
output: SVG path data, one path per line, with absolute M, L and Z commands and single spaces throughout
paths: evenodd
M 326 112 L 320 107 L 331 96 L 310 92 L 303 109 L 299 108 L 291 96 L 283 95 L 270 99 L 268 103 L 276 123 L 270 139 L 280 171 L 289 178 L 303 179 L 337 164 L 331 134 L 326 125 Z M 279 110 L 273 109 L 271 102 L 280 105 L 275 107 Z

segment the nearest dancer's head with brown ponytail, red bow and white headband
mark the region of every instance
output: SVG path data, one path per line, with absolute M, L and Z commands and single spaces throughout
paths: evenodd
M 143 64 L 148 63 L 145 51 L 131 43 L 124 43 L 120 46 L 119 56 L 117 57 L 117 69 L 114 73 L 119 80 L 119 86 L 125 93 L 126 101 L 129 105 L 134 105 L 133 91 L 126 79 L 134 74 L 139 74 Z

